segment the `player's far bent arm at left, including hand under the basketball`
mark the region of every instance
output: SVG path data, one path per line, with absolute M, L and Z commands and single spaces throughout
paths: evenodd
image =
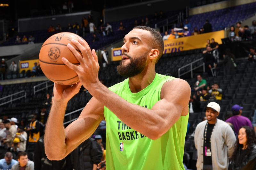
M 66 94 L 69 94 L 68 97 L 64 95 L 65 91 L 60 92 L 62 97 L 58 95 L 57 89 L 60 90 L 61 87 L 63 86 L 54 85 L 52 108 L 45 129 L 45 153 L 50 160 L 61 160 L 66 157 L 92 135 L 103 119 L 104 106 L 98 100 L 92 98 L 84 107 L 79 118 L 68 125 L 67 128 L 64 128 L 63 120 L 68 100 L 79 91 L 81 84 L 73 86 L 71 92 L 66 92 Z

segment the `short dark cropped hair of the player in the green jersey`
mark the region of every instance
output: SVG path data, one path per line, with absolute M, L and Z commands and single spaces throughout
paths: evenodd
M 133 29 L 142 29 L 150 32 L 153 38 L 151 48 L 157 48 L 159 50 L 159 55 L 157 56 L 157 60 L 159 60 L 164 52 L 164 41 L 162 35 L 148 26 L 135 26 Z

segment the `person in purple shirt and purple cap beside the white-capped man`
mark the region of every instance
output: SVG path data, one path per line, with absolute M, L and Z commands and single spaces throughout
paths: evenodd
M 248 119 L 247 117 L 241 116 L 242 109 L 243 107 L 237 104 L 232 106 L 231 110 L 232 110 L 233 116 L 226 120 L 226 122 L 233 124 L 236 135 L 238 134 L 238 131 L 242 126 L 250 126 L 252 128 L 252 122 L 250 121 L 250 119 Z

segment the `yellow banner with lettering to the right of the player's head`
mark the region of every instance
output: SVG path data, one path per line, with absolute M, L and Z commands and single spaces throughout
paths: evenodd
M 214 38 L 215 42 L 222 44 L 221 39 L 224 38 L 224 30 L 199 35 L 192 35 L 172 40 L 164 40 L 164 54 L 185 51 L 196 48 L 205 48 L 206 40 Z

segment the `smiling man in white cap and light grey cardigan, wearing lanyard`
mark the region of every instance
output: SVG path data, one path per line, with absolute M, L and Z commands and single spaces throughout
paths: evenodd
M 226 122 L 217 119 L 219 114 L 220 105 L 210 102 L 206 107 L 206 120 L 196 126 L 197 170 L 228 169 L 228 158 L 234 152 L 236 136 Z

